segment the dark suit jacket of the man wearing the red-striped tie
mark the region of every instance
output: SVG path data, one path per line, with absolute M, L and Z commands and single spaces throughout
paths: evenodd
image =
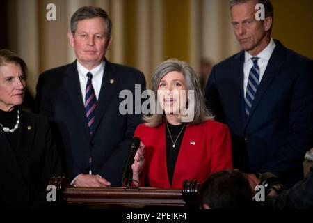
M 125 98 L 119 98 L 119 94 L 127 89 L 135 96 L 135 84 L 145 90 L 143 73 L 106 61 L 95 110 L 95 131 L 90 135 L 76 61 L 40 75 L 36 101 L 40 112 L 55 124 L 70 181 L 78 174 L 88 174 L 92 157 L 93 174 L 106 178 L 112 186 L 122 185 L 122 166 L 141 114 L 120 114 L 120 102 Z

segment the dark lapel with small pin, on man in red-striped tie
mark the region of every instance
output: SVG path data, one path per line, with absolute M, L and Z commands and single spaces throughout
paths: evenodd
M 106 61 L 104 67 L 104 75 L 102 77 L 102 84 L 98 98 L 97 109 L 95 112 L 95 132 L 99 127 L 99 123 L 102 120 L 102 117 L 106 113 L 106 110 L 109 107 L 111 98 L 114 95 L 116 88 L 118 86 L 118 75 L 115 75 L 115 69 L 109 61 Z M 95 134 L 93 134 L 94 136 Z M 92 136 L 92 137 L 93 137 Z

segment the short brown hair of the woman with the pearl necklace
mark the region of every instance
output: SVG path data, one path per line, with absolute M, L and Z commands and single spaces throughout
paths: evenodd
M 17 56 L 17 54 L 10 52 L 8 49 L 0 49 L 0 66 L 6 66 L 8 63 L 14 63 L 21 66 L 23 75 L 25 79 L 27 77 L 27 66 L 22 58 Z

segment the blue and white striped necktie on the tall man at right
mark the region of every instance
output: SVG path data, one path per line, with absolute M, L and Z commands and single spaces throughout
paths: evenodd
M 246 117 L 250 115 L 252 109 L 252 102 L 255 100 L 255 95 L 257 94 L 257 87 L 259 86 L 259 66 L 257 65 L 258 57 L 252 57 L 253 66 L 249 73 L 246 98 L 245 98 L 245 110 Z

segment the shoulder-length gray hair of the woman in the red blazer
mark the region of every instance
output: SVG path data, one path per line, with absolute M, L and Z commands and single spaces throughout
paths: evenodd
M 157 111 L 157 91 L 159 88 L 159 83 L 165 75 L 172 71 L 181 72 L 184 76 L 184 80 L 186 83 L 186 90 L 193 90 L 195 93 L 195 111 L 193 121 L 191 121 L 190 123 L 193 125 L 197 125 L 200 123 L 204 123 L 208 119 L 213 119 L 214 116 L 212 116 L 212 114 L 210 114 L 207 110 L 207 107 L 205 107 L 198 76 L 188 63 L 184 61 L 179 61 L 177 59 L 169 59 L 167 61 L 163 61 L 163 63 L 161 63 L 155 70 L 152 77 L 151 89 L 154 92 L 156 103 L 154 103 L 155 107 L 150 109 L 152 109 L 152 111 Z M 146 125 L 150 127 L 157 127 L 166 120 L 166 117 L 164 114 L 152 114 L 143 116 L 143 120 L 146 122 Z

